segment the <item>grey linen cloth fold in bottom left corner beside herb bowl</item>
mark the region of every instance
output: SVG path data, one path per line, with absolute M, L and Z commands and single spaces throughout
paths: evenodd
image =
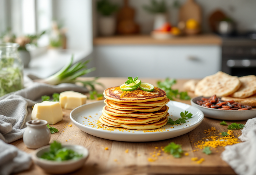
M 9 175 L 28 169 L 32 164 L 31 156 L 17 147 L 0 140 L 0 174 Z

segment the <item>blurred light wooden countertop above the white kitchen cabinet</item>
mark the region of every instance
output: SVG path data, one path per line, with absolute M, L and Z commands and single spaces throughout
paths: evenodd
M 196 36 L 180 36 L 167 40 L 157 40 L 150 35 L 129 35 L 97 37 L 93 39 L 95 46 L 99 45 L 221 45 L 221 38 L 213 34 Z

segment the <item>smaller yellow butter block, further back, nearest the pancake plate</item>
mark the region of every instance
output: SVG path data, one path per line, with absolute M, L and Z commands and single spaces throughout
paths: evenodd
M 87 96 L 79 92 L 65 91 L 60 93 L 60 105 L 64 109 L 75 109 L 86 103 Z

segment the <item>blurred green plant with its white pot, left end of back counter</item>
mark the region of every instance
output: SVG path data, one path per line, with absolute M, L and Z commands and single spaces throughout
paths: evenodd
M 100 0 L 97 2 L 97 10 L 100 13 L 99 32 L 102 36 L 115 34 L 116 19 L 113 14 L 117 9 L 118 6 L 110 3 L 108 0 Z

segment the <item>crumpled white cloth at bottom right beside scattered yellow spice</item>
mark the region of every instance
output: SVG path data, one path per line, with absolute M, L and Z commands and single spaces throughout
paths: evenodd
M 225 146 L 221 158 L 227 162 L 238 175 L 256 174 L 256 118 L 249 119 L 242 135 L 244 141 L 235 145 Z

